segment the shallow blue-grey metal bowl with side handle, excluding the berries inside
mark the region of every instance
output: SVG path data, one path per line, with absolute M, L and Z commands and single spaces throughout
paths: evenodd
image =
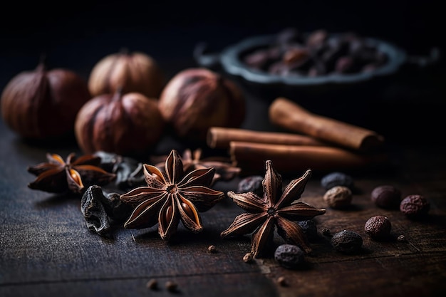
M 386 41 L 364 38 L 365 42 L 388 56 L 388 61 L 373 71 L 361 73 L 329 73 L 315 77 L 305 75 L 277 75 L 251 68 L 243 61 L 244 55 L 256 49 L 266 48 L 276 40 L 276 35 L 254 36 L 239 43 L 227 46 L 220 53 L 206 53 L 207 48 L 200 44 L 195 48 L 195 60 L 200 66 L 222 69 L 241 78 L 251 90 L 260 91 L 267 96 L 326 95 L 342 90 L 356 90 L 375 83 L 383 83 L 390 76 L 398 73 L 407 61 L 405 51 Z M 373 87 L 375 88 L 375 87 Z M 264 93 L 266 92 L 266 93 Z

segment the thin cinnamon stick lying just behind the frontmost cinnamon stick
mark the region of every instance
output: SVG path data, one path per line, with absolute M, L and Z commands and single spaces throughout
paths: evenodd
M 328 145 L 314 137 L 294 133 L 264 132 L 229 127 L 210 127 L 207 132 L 207 145 L 211 148 L 229 148 L 229 142 L 231 141 L 274 145 Z

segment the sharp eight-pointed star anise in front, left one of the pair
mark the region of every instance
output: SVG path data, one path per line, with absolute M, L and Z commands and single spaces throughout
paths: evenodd
M 214 168 L 185 173 L 180 155 L 172 150 L 165 161 L 165 172 L 144 165 L 147 187 L 138 187 L 120 196 L 135 209 L 124 227 L 142 229 L 158 223 L 162 239 L 170 239 L 182 224 L 192 232 L 202 231 L 199 212 L 205 212 L 224 198 L 224 193 L 210 189 Z

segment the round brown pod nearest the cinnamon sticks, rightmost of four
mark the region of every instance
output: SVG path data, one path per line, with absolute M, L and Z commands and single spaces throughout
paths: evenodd
M 205 68 L 177 73 L 162 90 L 158 104 L 178 136 L 198 141 L 205 141 L 209 127 L 239 127 L 245 115 L 239 86 Z

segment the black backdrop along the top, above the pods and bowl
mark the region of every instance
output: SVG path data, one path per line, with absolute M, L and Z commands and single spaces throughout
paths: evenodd
M 91 66 L 122 47 L 144 50 L 170 63 L 192 56 L 199 41 L 219 48 L 288 26 L 302 31 L 355 31 L 425 54 L 444 44 L 440 2 L 11 1 L 0 18 L 4 59 L 0 83 L 5 83 L 5 72 L 28 66 L 42 52 L 57 66 L 75 68 Z M 14 59 L 23 64 L 5 68 L 5 62 Z

